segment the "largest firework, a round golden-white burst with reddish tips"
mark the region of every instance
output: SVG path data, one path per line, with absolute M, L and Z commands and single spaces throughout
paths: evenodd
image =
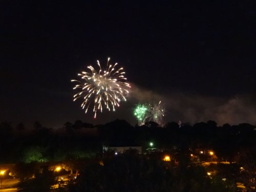
M 88 66 L 87 71 L 78 73 L 80 80 L 71 80 L 78 82 L 73 88 L 79 90 L 74 95 L 74 101 L 80 97 L 83 98 L 81 107 L 86 113 L 92 105 L 94 118 L 96 118 L 97 111 L 102 112 L 103 106 L 109 111 L 115 111 L 115 107 L 120 105 L 121 100 L 126 101 L 125 96 L 131 88 L 126 82 L 123 68 L 116 70 L 117 63 L 112 65 L 109 61 L 110 58 L 108 58 L 106 68 L 102 69 L 97 60 L 98 70 Z

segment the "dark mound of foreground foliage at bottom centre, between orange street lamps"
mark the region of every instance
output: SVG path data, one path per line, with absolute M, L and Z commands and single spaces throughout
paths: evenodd
M 211 182 L 202 166 L 159 160 L 157 156 L 124 154 L 104 159 L 104 165 L 83 167 L 69 191 L 231 191 Z

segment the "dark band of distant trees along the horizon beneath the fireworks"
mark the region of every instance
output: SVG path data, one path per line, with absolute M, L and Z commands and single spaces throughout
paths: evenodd
M 214 150 L 219 159 L 235 161 L 246 154 L 256 154 L 255 127 L 248 123 L 217 126 L 212 120 L 182 126 L 177 122 L 169 122 L 164 127 L 155 122 L 132 126 L 117 119 L 103 125 L 77 120 L 64 123 L 60 129 L 44 127 L 36 121 L 34 129 L 26 131 L 24 125 L 14 128 L 11 123 L 2 122 L 0 163 L 77 159 L 101 153 L 102 145 L 146 148 L 148 142 L 167 150 L 208 148 Z

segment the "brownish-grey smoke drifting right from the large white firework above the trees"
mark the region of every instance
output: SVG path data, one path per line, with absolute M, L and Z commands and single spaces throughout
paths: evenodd
M 239 123 L 256 124 L 256 103 L 253 95 L 232 97 L 202 96 L 184 93 L 155 93 L 132 84 L 130 98 L 133 102 L 156 103 L 160 100 L 166 111 L 165 122 L 191 124 L 215 120 L 219 126 Z

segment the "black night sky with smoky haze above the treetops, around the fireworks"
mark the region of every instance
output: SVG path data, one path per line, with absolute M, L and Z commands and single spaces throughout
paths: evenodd
M 0 1 L 0 122 L 136 123 L 163 101 L 164 122 L 256 124 L 253 1 Z M 108 57 L 132 84 L 116 112 L 84 114 L 71 79 Z

